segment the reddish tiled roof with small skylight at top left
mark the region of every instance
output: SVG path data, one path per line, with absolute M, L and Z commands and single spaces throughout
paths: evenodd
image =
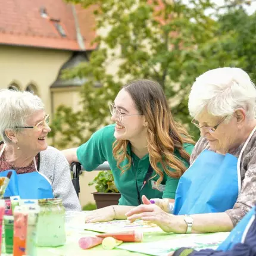
M 44 8 L 48 17 L 42 17 Z M 75 7 L 85 49 L 94 49 L 95 21 L 92 8 Z M 61 36 L 55 27 L 63 27 Z M 42 48 L 83 50 L 77 42 L 77 30 L 72 5 L 64 0 L 0 0 L 0 44 L 35 46 Z

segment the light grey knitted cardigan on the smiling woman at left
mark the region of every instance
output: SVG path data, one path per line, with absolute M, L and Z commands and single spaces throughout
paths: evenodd
M 81 211 L 81 205 L 71 182 L 70 167 L 64 155 L 48 146 L 40 152 L 40 173 L 51 181 L 55 198 L 61 198 L 66 211 Z

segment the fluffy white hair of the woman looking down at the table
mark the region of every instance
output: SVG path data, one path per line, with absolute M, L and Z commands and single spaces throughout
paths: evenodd
M 223 117 L 243 108 L 246 117 L 255 117 L 256 88 L 241 68 L 223 67 L 197 77 L 189 94 L 189 113 L 196 117 L 204 107 L 208 113 Z

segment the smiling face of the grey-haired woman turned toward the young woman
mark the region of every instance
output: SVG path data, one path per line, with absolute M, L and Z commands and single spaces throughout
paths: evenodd
M 27 126 L 36 126 L 45 118 L 45 111 L 39 110 L 27 118 Z M 41 128 L 41 129 L 40 129 Z M 17 143 L 21 150 L 38 154 L 47 148 L 46 136 L 51 132 L 50 127 L 44 123 L 36 128 L 25 128 L 17 134 Z

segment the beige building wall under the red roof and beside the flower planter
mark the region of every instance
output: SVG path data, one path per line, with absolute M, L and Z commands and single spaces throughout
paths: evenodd
M 38 90 L 38 95 L 46 107 L 46 113 L 51 113 L 51 101 L 54 109 L 65 104 L 78 110 L 79 88 L 53 89 L 51 98 L 50 86 L 55 81 L 62 65 L 68 61 L 73 52 L 52 49 L 25 48 L 0 45 L 0 89 L 8 88 L 17 83 L 20 89 L 26 89 L 32 83 Z M 52 113 L 51 113 L 52 114 Z M 90 194 L 95 188 L 88 182 L 98 172 L 85 173 L 80 180 L 80 202 L 82 205 L 94 202 Z

